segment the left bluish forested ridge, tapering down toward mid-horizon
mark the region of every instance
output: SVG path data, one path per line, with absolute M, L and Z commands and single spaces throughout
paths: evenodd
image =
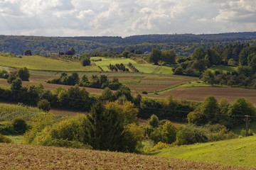
M 33 54 L 39 52 L 44 55 L 46 52 L 66 52 L 70 47 L 82 54 L 105 46 L 100 42 L 70 38 L 0 35 L 0 51 L 14 52 L 16 55 L 21 55 L 26 49 L 31 49 Z

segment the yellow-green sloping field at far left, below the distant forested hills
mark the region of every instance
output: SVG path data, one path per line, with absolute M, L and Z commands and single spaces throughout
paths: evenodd
M 82 67 L 80 62 L 64 62 L 61 60 L 52 60 L 43 56 L 32 55 L 18 57 L 1 57 L 1 66 L 4 67 L 27 67 L 28 69 L 47 70 L 58 72 L 85 72 L 100 71 L 97 66 Z

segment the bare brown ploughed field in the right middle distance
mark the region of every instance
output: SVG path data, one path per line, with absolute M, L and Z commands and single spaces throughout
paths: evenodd
M 229 102 L 233 102 L 238 98 L 246 98 L 256 106 L 256 90 L 241 88 L 225 88 L 225 87 L 190 87 L 178 88 L 159 95 L 147 95 L 154 98 L 166 98 L 172 95 L 175 99 L 187 101 L 204 101 L 207 96 L 215 96 L 220 101 L 226 98 Z

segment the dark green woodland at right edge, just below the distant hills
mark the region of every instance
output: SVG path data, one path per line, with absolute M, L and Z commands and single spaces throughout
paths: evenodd
M 180 67 L 174 69 L 174 74 L 185 74 L 199 77 L 211 65 L 247 66 L 256 73 L 256 46 L 228 45 L 225 48 L 215 47 L 203 50 L 198 47 L 190 57 L 179 58 Z

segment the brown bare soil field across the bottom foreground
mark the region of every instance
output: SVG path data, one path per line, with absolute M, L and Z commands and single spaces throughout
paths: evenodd
M 0 169 L 256 169 L 141 154 L 0 144 Z

